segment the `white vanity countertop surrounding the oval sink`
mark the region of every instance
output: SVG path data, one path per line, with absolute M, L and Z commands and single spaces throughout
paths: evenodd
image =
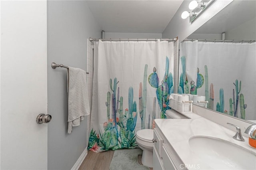
M 211 160 L 209 162 L 201 162 L 200 158 L 192 152 L 189 139 L 193 136 L 209 136 L 211 138 L 227 140 L 250 150 L 250 152 L 256 155 L 256 148 L 248 144 L 248 137 L 243 136 L 245 139 L 244 142 L 235 140 L 232 138 L 236 133 L 233 130 L 218 125 L 204 117 L 200 117 L 195 113 L 186 113 L 184 115 L 191 119 L 155 119 L 156 126 L 159 127 L 168 140 L 167 142 L 174 148 L 184 164 L 192 165 L 200 163 L 200 169 L 212 169 L 210 166 Z

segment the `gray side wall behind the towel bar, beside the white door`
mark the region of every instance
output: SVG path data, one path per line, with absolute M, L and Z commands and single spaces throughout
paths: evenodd
M 48 169 L 70 170 L 87 146 L 87 118 L 68 129 L 66 69 L 52 69 L 62 63 L 86 70 L 87 38 L 100 38 L 101 28 L 94 21 L 86 1 L 47 1 L 48 45 Z M 40 146 L 38 146 L 40 147 Z

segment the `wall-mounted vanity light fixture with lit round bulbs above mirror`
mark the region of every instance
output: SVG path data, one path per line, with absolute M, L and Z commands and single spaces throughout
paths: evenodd
M 192 11 L 182 12 L 181 18 L 186 19 L 189 17 L 189 22 L 193 22 L 196 17 L 202 14 L 202 12 L 204 12 L 204 10 L 206 10 L 206 8 L 208 8 L 208 6 L 210 6 L 213 2 L 214 0 L 192 0 L 188 5 L 188 8 Z

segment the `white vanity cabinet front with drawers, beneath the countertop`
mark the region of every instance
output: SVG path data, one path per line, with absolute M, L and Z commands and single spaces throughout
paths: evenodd
M 154 128 L 154 144 L 153 144 L 153 169 L 154 170 L 177 170 L 185 169 L 182 162 L 178 161 L 178 164 L 174 164 L 174 159 L 171 154 L 172 146 L 168 144 L 167 139 L 162 134 L 161 130 L 157 127 Z M 176 152 L 174 151 L 174 154 Z M 175 156 L 178 157 L 178 156 Z M 177 166 L 178 165 L 178 166 Z

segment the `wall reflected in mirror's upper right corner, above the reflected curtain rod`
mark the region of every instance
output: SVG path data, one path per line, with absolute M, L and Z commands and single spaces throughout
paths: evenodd
M 226 31 L 226 40 L 256 40 L 256 18 Z M 252 29 L 253 28 L 253 29 Z

